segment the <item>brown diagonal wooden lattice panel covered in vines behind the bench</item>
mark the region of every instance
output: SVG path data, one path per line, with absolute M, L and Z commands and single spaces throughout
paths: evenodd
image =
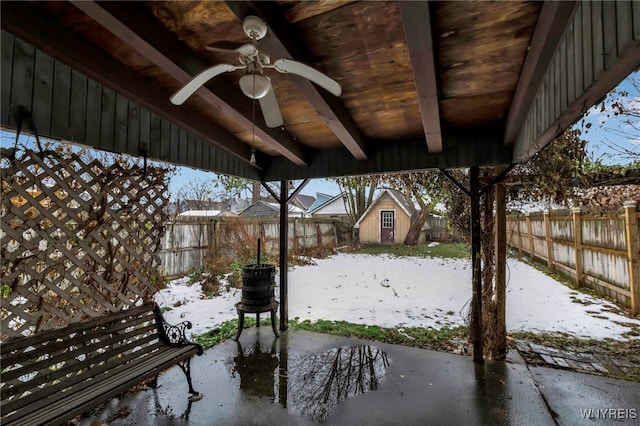
M 2 150 L 1 338 L 118 311 L 156 291 L 166 170 Z

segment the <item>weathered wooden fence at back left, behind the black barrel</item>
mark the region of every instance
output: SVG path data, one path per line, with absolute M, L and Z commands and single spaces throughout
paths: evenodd
M 160 274 L 175 278 L 203 264 L 207 256 L 254 256 L 258 237 L 263 253 L 279 247 L 278 218 L 178 217 L 165 223 Z M 302 254 L 315 247 L 337 247 L 351 239 L 349 224 L 331 219 L 290 218 L 289 251 Z

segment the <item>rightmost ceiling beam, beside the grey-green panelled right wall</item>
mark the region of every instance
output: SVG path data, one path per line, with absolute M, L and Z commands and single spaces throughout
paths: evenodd
M 507 145 L 513 145 L 518 138 L 531 103 L 538 93 L 577 5 L 578 2 L 573 0 L 545 1 L 542 4 L 538 23 L 529 43 L 529 52 L 507 115 L 504 136 Z

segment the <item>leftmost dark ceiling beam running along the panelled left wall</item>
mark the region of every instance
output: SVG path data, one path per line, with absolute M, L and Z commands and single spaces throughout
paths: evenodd
M 154 114 L 249 162 L 251 151 L 247 144 L 212 123 L 199 111 L 171 104 L 169 98 L 149 80 L 87 41 L 71 35 L 37 7 L 26 2 L 2 2 L 2 27 L 105 87 L 127 93 L 129 99 Z

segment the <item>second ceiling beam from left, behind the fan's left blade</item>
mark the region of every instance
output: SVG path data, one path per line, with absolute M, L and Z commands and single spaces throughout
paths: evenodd
M 182 84 L 208 66 L 135 2 L 96 3 L 71 0 L 71 3 Z M 148 40 L 153 40 L 153 44 Z M 270 129 L 260 120 L 256 120 L 255 128 L 253 127 L 248 108 L 241 112 L 242 102 L 246 99 L 240 92 L 233 93 L 228 86 L 218 85 L 216 88 L 220 90 L 216 89 L 214 93 L 207 87 L 202 87 L 197 94 L 245 129 L 255 131 L 258 138 L 291 162 L 307 164 L 304 150 L 290 135 L 281 129 Z

